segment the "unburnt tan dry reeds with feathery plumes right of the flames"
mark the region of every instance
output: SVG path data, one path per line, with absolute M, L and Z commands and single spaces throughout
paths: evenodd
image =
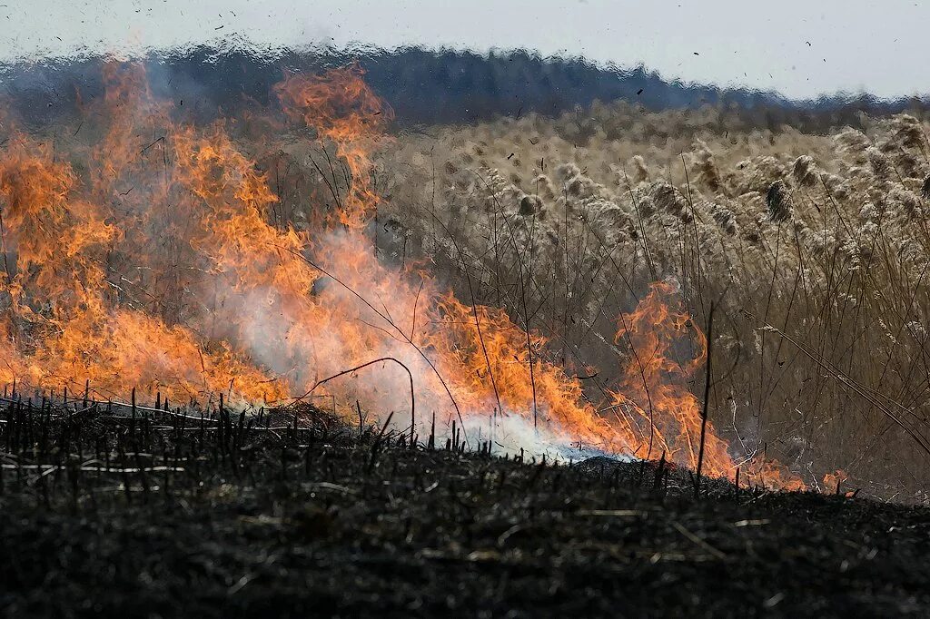
M 671 280 L 699 322 L 718 305 L 711 419 L 737 456 L 923 501 L 930 143 L 910 115 L 863 125 L 595 104 L 430 127 L 381 154 L 379 247 L 599 368 L 592 392 L 631 356 L 618 314 Z

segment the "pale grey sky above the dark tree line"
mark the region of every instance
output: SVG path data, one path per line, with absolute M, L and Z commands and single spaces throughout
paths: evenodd
M 640 63 L 666 79 L 930 93 L 930 2 L 883 0 L 0 0 L 0 61 L 203 43 L 417 45 Z

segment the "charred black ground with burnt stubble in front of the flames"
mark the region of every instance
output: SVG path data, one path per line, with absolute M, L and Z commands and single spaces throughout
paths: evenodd
M 4 406 L 6 616 L 930 615 L 920 507 L 695 499 L 655 463 L 411 450 L 310 408 Z

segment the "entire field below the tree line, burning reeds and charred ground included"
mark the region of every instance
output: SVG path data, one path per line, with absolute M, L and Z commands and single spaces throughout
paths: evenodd
M 0 125 L 0 609 L 925 614 L 920 112 Z

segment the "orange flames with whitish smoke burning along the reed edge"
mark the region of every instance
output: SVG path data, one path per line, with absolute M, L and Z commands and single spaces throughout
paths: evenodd
M 379 262 L 365 227 L 379 199 L 372 153 L 392 113 L 358 67 L 274 88 L 286 122 L 326 156 L 330 209 L 307 230 L 272 223 L 279 196 L 227 131 L 233 121 L 181 125 L 140 68 L 114 64 L 107 78 L 82 121 L 101 124 L 86 128 L 94 146 L 62 154 L 14 134 L 0 152 L 0 380 L 72 392 L 89 381 L 97 397 L 140 389 L 206 407 L 219 394 L 240 406 L 329 394 L 393 412 L 421 440 L 435 415 L 482 441 L 528 428 L 517 446 L 574 441 L 696 465 L 701 411 L 687 381 L 707 342 L 670 284 L 620 316 L 631 360 L 599 409 L 547 361 L 544 336 Z M 707 429 L 704 470 L 732 476 Z M 771 463 L 754 474 L 801 485 Z

